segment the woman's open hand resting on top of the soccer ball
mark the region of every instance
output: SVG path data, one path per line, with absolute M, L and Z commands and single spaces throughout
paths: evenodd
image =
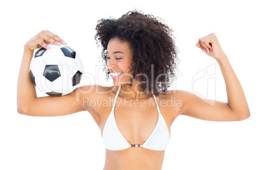
M 24 49 L 27 49 L 29 51 L 34 51 L 38 48 L 45 48 L 50 49 L 50 46 L 47 46 L 47 44 L 55 44 L 57 46 L 60 46 L 61 44 L 67 44 L 65 41 L 60 39 L 59 36 L 53 34 L 49 30 L 41 30 L 36 36 L 32 37 L 27 43 L 25 43 Z

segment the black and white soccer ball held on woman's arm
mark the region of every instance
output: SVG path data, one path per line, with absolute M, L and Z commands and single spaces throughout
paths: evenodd
M 80 84 L 83 74 L 82 60 L 69 46 L 48 46 L 50 49 L 38 49 L 31 60 L 32 82 L 47 95 L 68 95 Z

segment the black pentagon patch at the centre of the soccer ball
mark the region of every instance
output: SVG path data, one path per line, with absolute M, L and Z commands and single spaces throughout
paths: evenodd
M 55 81 L 58 77 L 60 77 L 60 70 L 58 65 L 45 65 L 43 76 L 45 76 L 48 81 Z

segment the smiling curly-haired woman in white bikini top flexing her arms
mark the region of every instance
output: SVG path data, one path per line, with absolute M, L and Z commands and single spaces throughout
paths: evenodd
M 196 44 L 217 60 L 224 76 L 228 103 L 215 101 L 212 106 L 208 103 L 213 100 L 187 91 L 167 91 L 175 75 L 177 56 L 172 31 L 159 19 L 129 11 L 118 20 L 99 20 L 96 30 L 95 39 L 103 46 L 106 76 L 111 74 L 114 86 L 88 85 L 66 96 L 37 98 L 29 76 L 33 51 L 49 49 L 49 43 L 66 44 L 43 30 L 24 46 L 17 104 L 20 114 L 33 116 L 87 110 L 99 126 L 106 147 L 104 169 L 161 169 L 171 124 L 178 115 L 208 121 L 250 117 L 243 89 L 215 34 L 200 38 Z M 170 105 L 173 99 L 176 102 Z

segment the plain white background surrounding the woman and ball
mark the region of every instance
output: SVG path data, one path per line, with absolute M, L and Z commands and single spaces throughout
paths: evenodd
M 217 34 L 243 86 L 251 117 L 213 122 L 181 115 L 171 127 L 162 169 L 256 169 L 255 148 L 255 3 L 253 1 L 3 1 L 1 18 L 0 169 L 103 169 L 101 133 L 88 112 L 60 117 L 17 113 L 16 91 L 25 42 L 43 29 L 62 37 L 96 77 L 101 49 L 94 35 L 97 20 L 142 10 L 163 18 L 174 30 L 180 49 L 181 76 L 170 89 L 195 92 L 227 102 L 218 63 L 196 47 L 200 37 Z M 211 65 L 215 74 L 192 83 Z M 212 67 L 213 66 L 213 67 Z M 216 67 L 216 68 L 215 68 Z M 215 70 L 214 70 L 215 68 Z M 104 72 L 83 84 L 111 86 Z M 206 73 L 206 72 L 205 72 Z M 207 74 L 206 74 L 207 75 Z M 208 82 L 207 82 L 208 81 Z M 215 93 L 206 92 L 215 91 Z

